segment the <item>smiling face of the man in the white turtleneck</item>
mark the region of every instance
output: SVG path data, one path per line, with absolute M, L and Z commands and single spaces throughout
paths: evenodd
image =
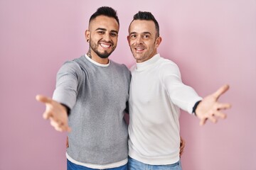
M 156 38 L 154 21 L 134 20 L 129 26 L 127 36 L 129 47 L 134 59 L 145 62 L 157 53 L 157 47 L 161 43 L 161 37 Z

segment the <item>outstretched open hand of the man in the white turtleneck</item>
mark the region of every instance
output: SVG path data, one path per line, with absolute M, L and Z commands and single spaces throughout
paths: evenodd
M 231 105 L 230 103 L 219 103 L 218 98 L 228 91 L 228 89 L 229 86 L 224 85 L 215 91 L 215 93 L 203 98 L 203 100 L 198 104 L 195 113 L 201 120 L 200 125 L 204 125 L 206 120 L 216 123 L 218 118 L 226 118 L 226 115 L 222 112 L 222 110 L 230 108 Z

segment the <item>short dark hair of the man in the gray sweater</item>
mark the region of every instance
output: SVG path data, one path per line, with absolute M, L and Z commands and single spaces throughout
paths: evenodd
M 100 8 L 97 8 L 97 11 L 95 13 L 93 13 L 92 16 L 90 17 L 89 23 L 90 23 L 90 21 L 95 19 L 97 16 L 112 17 L 117 21 L 117 23 L 119 25 L 119 19 L 118 19 L 118 16 L 117 16 L 117 11 L 115 11 L 113 8 L 111 8 L 109 6 L 102 6 Z

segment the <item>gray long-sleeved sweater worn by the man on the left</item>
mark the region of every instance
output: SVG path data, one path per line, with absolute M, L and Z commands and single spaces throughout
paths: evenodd
M 127 159 L 124 110 L 129 98 L 129 69 L 110 60 L 107 67 L 85 55 L 65 62 L 57 74 L 53 99 L 70 108 L 68 155 L 85 164 Z

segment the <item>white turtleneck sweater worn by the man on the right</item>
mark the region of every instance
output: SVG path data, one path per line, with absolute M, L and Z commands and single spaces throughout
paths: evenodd
M 129 157 L 145 164 L 179 160 L 179 108 L 192 113 L 202 98 L 181 81 L 178 66 L 159 54 L 131 68 Z

